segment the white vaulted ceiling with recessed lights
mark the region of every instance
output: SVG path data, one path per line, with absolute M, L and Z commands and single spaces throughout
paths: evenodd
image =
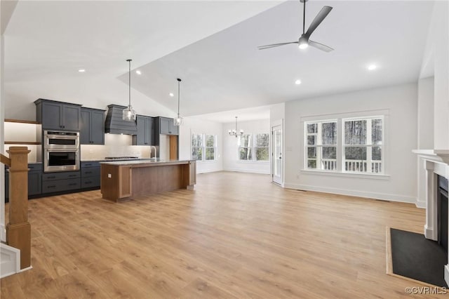
M 278 102 L 417 81 L 433 2 L 310 0 L 306 27 L 333 6 L 311 39 L 335 51 L 259 51 L 302 33 L 302 4 L 276 4 L 19 1 L 5 32 L 5 82 L 70 78 L 86 68 L 86 76 L 127 83 L 126 59 L 133 58 L 142 72 L 133 72 L 136 90 L 176 111 L 180 77 L 182 115 L 220 119 L 216 113 L 227 112 L 221 119 L 230 122 L 238 112 L 267 115 L 261 106 Z M 369 63 L 379 68 L 368 72 Z M 239 120 L 248 120 L 243 114 Z

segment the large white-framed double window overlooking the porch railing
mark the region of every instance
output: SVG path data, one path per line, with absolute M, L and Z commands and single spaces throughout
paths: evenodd
M 305 168 L 383 173 L 383 123 L 383 117 L 305 122 Z

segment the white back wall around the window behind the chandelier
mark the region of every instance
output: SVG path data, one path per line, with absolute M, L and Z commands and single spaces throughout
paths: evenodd
M 239 161 L 239 138 L 229 136 L 228 131 L 235 128 L 235 123 L 223 124 L 223 169 L 246 173 L 270 173 L 269 161 Z M 245 133 L 269 133 L 269 119 L 255 121 L 239 121 L 237 131 Z

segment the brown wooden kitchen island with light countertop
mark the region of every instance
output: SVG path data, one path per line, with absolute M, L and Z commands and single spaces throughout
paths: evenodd
M 125 201 L 129 197 L 177 189 L 193 190 L 196 161 L 131 160 L 100 162 L 103 199 Z

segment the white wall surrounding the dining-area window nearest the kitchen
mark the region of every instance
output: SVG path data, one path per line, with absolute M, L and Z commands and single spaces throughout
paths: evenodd
M 192 159 L 192 133 L 217 135 L 217 152 L 214 161 L 197 161 L 196 173 L 210 173 L 223 170 L 222 124 L 215 121 L 204 121 L 195 117 L 186 117 L 180 127 L 180 159 Z

